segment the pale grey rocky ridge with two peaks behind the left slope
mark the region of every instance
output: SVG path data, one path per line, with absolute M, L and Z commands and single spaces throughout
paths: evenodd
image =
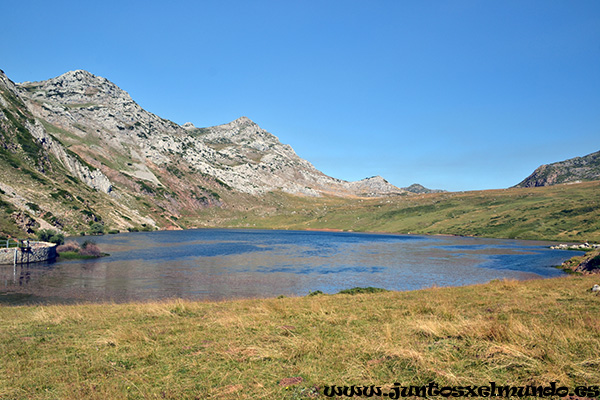
M 363 190 L 363 185 L 318 171 L 246 117 L 209 128 L 179 126 L 142 109 L 125 91 L 87 71 L 19 87 L 37 118 L 109 175 L 124 173 L 160 186 L 157 170 L 183 167 L 249 194 L 281 190 L 347 196 Z M 380 194 L 376 187 L 369 191 Z

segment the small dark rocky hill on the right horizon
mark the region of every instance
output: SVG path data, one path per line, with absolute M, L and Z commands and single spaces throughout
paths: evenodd
M 538 167 L 514 187 L 550 186 L 600 180 L 600 151 Z

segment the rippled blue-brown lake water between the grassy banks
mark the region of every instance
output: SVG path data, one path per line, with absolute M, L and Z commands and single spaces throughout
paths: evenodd
M 231 299 L 413 290 L 560 276 L 576 255 L 547 242 L 464 237 L 203 229 L 76 238 L 110 257 L 0 266 L 0 303 Z

